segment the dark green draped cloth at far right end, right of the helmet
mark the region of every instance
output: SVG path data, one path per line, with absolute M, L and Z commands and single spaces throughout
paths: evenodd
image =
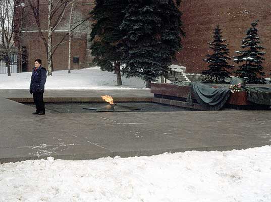
M 259 105 L 271 105 L 271 87 L 243 86 L 247 91 L 247 100 Z

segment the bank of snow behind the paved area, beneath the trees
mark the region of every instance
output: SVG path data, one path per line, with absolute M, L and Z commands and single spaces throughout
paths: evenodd
M 32 72 L 0 74 L 0 89 L 29 89 Z M 116 86 L 117 77 L 113 72 L 101 71 L 99 67 L 83 70 L 54 71 L 47 76 L 46 89 L 145 89 L 140 78 L 122 77 L 123 85 Z

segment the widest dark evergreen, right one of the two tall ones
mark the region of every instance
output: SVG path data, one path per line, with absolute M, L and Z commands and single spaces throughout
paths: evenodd
M 146 87 L 168 73 L 184 36 L 181 12 L 174 0 L 129 0 L 121 25 L 125 33 L 122 61 L 127 76 L 138 76 Z

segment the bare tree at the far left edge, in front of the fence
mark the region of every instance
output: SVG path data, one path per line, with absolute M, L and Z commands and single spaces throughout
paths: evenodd
M 22 6 L 20 0 L 0 1 L 0 61 L 5 61 L 8 76 L 11 76 L 11 54 L 16 49 L 14 46 L 15 9 L 20 6 Z

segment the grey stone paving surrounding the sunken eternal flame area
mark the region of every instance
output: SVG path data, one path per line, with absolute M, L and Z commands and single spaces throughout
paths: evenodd
M 24 90 L 0 91 L 1 163 L 48 156 L 82 160 L 271 144 L 271 111 L 46 113 L 37 116 L 32 115 L 32 107 L 5 98 L 26 96 L 26 93 Z M 48 91 L 45 96 L 83 97 L 90 92 L 75 93 Z M 100 93 L 104 92 L 97 91 Z M 136 97 L 140 93 L 151 96 L 148 90 L 107 91 L 106 94 Z

